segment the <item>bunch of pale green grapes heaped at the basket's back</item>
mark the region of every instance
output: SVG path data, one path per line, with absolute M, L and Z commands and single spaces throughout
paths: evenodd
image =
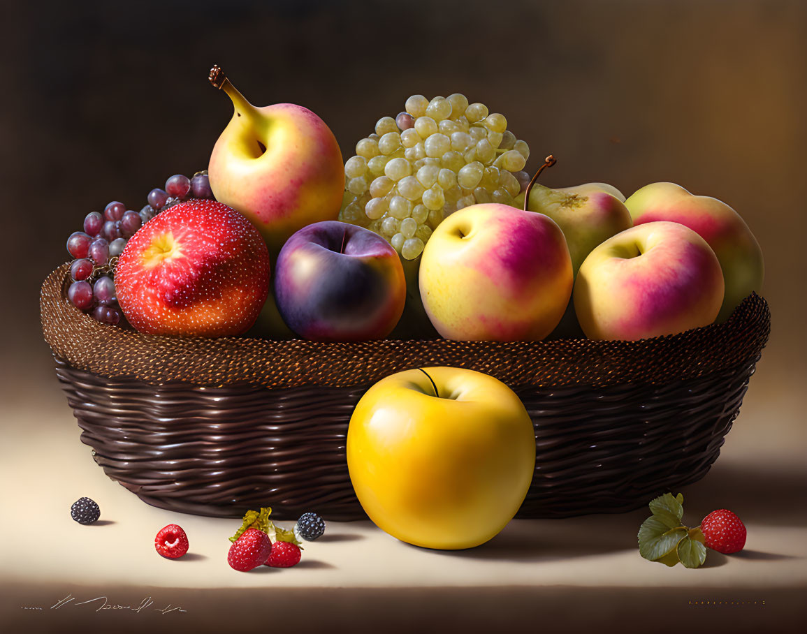
M 529 146 L 507 119 L 462 94 L 406 100 L 345 162 L 339 219 L 375 231 L 405 259 L 423 252 L 449 214 L 478 202 L 512 205 L 529 182 Z

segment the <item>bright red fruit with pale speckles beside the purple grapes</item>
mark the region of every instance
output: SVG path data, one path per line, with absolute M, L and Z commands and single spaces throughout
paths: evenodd
M 149 220 L 115 268 L 123 314 L 153 335 L 232 336 L 255 323 L 269 293 L 269 251 L 245 216 L 212 200 Z

